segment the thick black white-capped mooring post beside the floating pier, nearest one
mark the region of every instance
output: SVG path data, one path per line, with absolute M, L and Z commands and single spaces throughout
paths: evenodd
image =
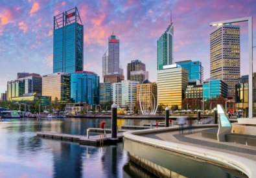
M 111 139 L 110 144 L 117 144 L 117 104 L 111 106 Z

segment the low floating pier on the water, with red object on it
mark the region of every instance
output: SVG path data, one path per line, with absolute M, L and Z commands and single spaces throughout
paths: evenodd
M 79 142 L 84 145 L 91 146 L 100 146 L 101 144 L 106 145 L 111 142 L 111 134 L 106 134 L 106 138 L 103 138 L 103 134 L 89 136 L 87 139 L 86 135 L 72 135 L 65 133 L 51 133 L 51 132 L 37 132 L 36 135 L 38 137 L 43 137 L 45 139 L 54 139 L 54 140 L 65 140 L 70 142 Z M 101 138 L 100 138 L 101 137 Z M 117 133 L 117 142 L 122 142 L 122 133 Z

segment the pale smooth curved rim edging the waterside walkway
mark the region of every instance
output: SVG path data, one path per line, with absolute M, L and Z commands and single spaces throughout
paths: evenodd
M 207 127 L 207 126 L 217 126 L 217 124 L 211 125 L 196 125 L 195 128 Z M 186 126 L 187 127 L 187 126 Z M 185 127 L 185 128 L 186 128 Z M 183 153 L 186 155 L 190 155 L 192 157 L 198 157 L 200 159 L 206 159 L 209 161 L 217 162 L 219 164 L 224 164 L 235 170 L 239 170 L 240 172 L 245 173 L 248 177 L 256 177 L 256 161 L 251 159 L 247 159 L 244 157 L 240 157 L 237 155 L 231 155 L 229 153 L 223 153 L 220 151 L 213 151 L 203 148 L 198 148 L 194 146 L 187 146 L 185 144 L 177 144 L 174 142 L 167 142 L 164 140 L 151 139 L 143 136 L 139 136 L 137 134 L 145 134 L 159 131 L 170 131 L 172 129 L 177 129 L 178 127 L 170 127 L 170 128 L 157 128 L 157 129 L 146 129 L 139 131 L 127 131 L 124 132 L 124 138 L 134 140 L 136 142 L 141 142 L 143 144 L 148 144 L 150 146 L 156 146 L 158 148 L 163 148 L 166 150 L 176 151 L 178 153 Z M 124 142 L 125 143 L 125 142 Z

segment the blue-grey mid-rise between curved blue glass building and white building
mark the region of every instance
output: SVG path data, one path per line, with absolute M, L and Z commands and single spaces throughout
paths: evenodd
M 100 83 L 100 104 L 113 100 L 113 86 L 110 82 Z

